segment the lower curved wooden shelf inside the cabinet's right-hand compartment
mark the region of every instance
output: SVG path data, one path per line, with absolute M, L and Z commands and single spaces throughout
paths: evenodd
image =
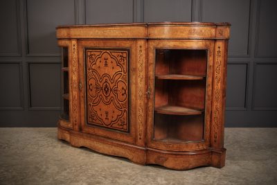
M 159 114 L 173 114 L 173 115 L 199 115 L 202 114 L 202 110 L 190 109 L 187 107 L 166 105 L 155 108 L 155 112 Z

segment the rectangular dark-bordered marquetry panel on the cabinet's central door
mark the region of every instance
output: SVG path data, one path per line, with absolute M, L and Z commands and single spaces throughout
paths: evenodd
M 128 51 L 86 50 L 87 124 L 128 132 Z

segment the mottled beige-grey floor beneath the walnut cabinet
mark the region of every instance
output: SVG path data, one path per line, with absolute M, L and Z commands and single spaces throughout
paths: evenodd
M 0 128 L 0 184 L 277 184 L 277 128 L 226 128 L 226 166 L 139 166 L 57 140 L 56 128 Z

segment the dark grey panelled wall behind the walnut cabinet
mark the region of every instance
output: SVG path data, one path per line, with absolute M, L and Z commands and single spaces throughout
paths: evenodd
M 0 126 L 53 127 L 60 113 L 55 27 L 229 21 L 226 126 L 277 126 L 275 0 L 1 0 Z

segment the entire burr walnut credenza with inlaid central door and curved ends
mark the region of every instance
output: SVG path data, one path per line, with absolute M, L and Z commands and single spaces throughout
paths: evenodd
M 58 139 L 184 170 L 225 164 L 229 23 L 58 26 Z

